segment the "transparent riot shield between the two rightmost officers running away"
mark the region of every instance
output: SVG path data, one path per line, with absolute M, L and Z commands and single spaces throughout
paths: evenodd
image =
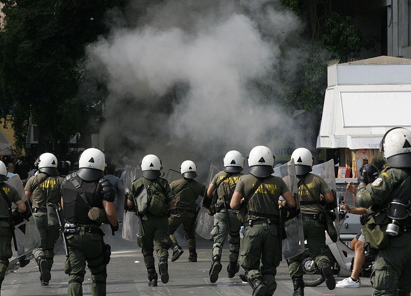
M 274 176 L 282 178 L 287 184 L 290 192 L 295 196 L 297 207 L 300 208 L 300 200 L 298 199 L 297 177 L 295 176 L 294 160 L 281 165 L 274 169 Z M 283 256 L 284 259 L 289 259 L 300 255 L 304 252 L 304 231 L 303 220 L 301 215 L 285 222 L 285 231 L 287 238 L 283 239 Z

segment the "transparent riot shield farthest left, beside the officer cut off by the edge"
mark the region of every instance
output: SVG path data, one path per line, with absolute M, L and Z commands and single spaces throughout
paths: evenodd
M 7 184 L 14 187 L 17 190 L 20 197 L 24 202 L 27 201 L 26 194 L 24 192 L 23 183 L 20 180 L 18 175 L 14 175 L 6 181 Z M 27 205 L 27 203 L 26 203 Z M 13 209 L 16 207 L 12 204 Z M 27 210 L 31 212 L 31 208 L 27 207 Z M 22 255 L 28 254 L 33 251 L 34 248 L 37 248 L 41 244 L 40 234 L 35 226 L 33 216 L 28 220 L 23 220 L 21 223 L 14 226 L 16 242 L 17 242 L 17 251 L 14 248 L 14 243 L 11 242 L 11 249 L 13 251 L 13 257 L 20 257 Z

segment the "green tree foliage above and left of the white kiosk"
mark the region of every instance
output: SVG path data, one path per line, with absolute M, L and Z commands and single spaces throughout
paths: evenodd
M 279 69 L 285 86 L 283 100 L 291 108 L 320 111 L 327 86 L 327 63 L 358 58 L 361 48 L 369 49 L 373 43 L 354 26 L 351 16 L 333 11 L 329 0 L 283 0 L 282 3 L 307 24 L 300 38 L 283 47 L 286 60 L 292 59 L 290 52 L 304 54 L 297 75 L 290 77 L 284 68 Z

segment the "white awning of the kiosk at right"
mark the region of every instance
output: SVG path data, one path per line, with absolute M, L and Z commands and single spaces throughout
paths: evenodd
M 329 87 L 317 148 L 379 148 L 391 127 L 411 130 L 410 110 L 411 84 Z

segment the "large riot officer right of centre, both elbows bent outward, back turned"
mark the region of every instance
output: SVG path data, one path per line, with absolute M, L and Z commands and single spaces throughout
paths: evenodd
M 241 203 L 245 207 L 240 265 L 246 271 L 253 296 L 272 295 L 277 287 L 275 274 L 282 260 L 278 252 L 279 196 L 285 198 L 290 210 L 296 207 L 283 179 L 271 175 L 273 164 L 274 156 L 268 147 L 254 147 L 248 157 L 250 174 L 239 177 L 230 203 L 232 209 L 238 209 Z

